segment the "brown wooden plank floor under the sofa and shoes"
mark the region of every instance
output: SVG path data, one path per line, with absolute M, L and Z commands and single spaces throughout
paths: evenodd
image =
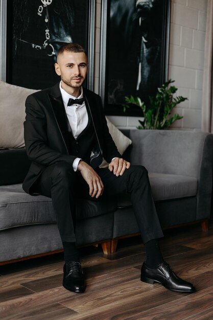
M 213 319 L 213 221 L 208 234 L 201 233 L 200 225 L 164 234 L 165 260 L 195 284 L 196 293 L 140 282 L 145 253 L 134 237 L 120 240 L 117 253 L 108 258 L 101 247 L 82 249 L 85 293 L 62 287 L 62 254 L 1 266 L 0 319 Z

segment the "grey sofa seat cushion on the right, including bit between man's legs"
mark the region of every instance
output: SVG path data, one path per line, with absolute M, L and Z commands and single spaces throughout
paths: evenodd
M 150 185 L 155 201 L 191 197 L 197 194 L 198 180 L 176 174 L 149 173 Z M 130 195 L 118 198 L 118 207 L 131 205 Z

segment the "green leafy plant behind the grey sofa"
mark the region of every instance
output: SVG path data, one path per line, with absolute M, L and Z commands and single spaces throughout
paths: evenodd
M 165 129 L 170 127 L 176 120 L 182 119 L 176 113 L 171 116 L 172 109 L 179 103 L 187 100 L 182 96 L 174 97 L 177 88 L 171 83 L 175 82 L 170 79 L 158 88 L 155 97 L 149 97 L 149 108 L 139 97 L 125 97 L 124 111 L 131 105 L 137 105 L 143 111 L 144 120 L 138 120 L 140 123 L 137 129 Z

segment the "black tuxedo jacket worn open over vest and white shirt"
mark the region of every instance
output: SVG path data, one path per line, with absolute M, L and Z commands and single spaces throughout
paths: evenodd
M 84 88 L 85 103 L 88 103 L 96 129 L 102 155 L 107 162 L 121 157 L 109 133 L 101 97 Z M 73 165 L 76 156 L 68 154 L 68 130 L 59 83 L 30 95 L 26 100 L 24 136 L 27 155 L 32 161 L 23 181 L 23 190 L 31 192 L 42 170 L 59 161 Z

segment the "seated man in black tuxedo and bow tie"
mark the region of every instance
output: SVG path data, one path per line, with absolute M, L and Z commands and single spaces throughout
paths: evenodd
M 98 199 L 131 193 L 147 253 L 141 281 L 158 282 L 174 291 L 194 292 L 194 286 L 178 278 L 160 253 L 158 238 L 163 234 L 147 170 L 130 166 L 122 158 L 109 134 L 101 98 L 82 88 L 87 74 L 84 49 L 76 43 L 63 45 L 55 70 L 61 82 L 26 100 L 25 143 L 32 164 L 23 189 L 52 198 L 64 248 L 63 286 L 74 292 L 85 290 L 75 245 L 78 196 Z M 99 168 L 102 155 L 108 168 Z

